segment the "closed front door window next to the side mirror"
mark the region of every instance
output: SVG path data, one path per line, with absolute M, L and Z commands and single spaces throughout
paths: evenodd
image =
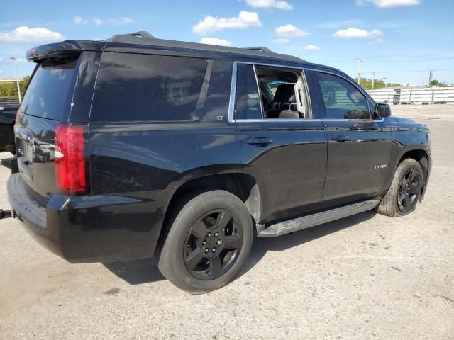
M 349 81 L 316 72 L 327 119 L 370 119 L 367 98 Z

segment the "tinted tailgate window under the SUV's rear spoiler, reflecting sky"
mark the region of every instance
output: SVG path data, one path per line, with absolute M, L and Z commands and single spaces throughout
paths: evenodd
M 77 57 L 43 62 L 36 69 L 21 104 L 21 112 L 65 120 L 70 115 Z

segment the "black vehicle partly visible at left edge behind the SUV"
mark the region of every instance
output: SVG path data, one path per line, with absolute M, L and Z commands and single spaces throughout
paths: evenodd
M 18 101 L 0 98 L 0 152 L 16 153 L 13 128 L 18 108 Z

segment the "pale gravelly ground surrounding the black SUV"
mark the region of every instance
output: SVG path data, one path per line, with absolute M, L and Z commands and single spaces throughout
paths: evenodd
M 454 106 L 392 110 L 431 128 L 416 212 L 256 238 L 213 293 L 178 290 L 149 259 L 67 263 L 1 220 L 0 339 L 454 339 Z M 8 176 L 1 166 L 0 208 Z

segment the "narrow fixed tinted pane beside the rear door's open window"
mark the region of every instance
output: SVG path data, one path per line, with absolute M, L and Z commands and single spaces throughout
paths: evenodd
M 238 64 L 236 119 L 262 119 L 260 96 L 252 65 Z

